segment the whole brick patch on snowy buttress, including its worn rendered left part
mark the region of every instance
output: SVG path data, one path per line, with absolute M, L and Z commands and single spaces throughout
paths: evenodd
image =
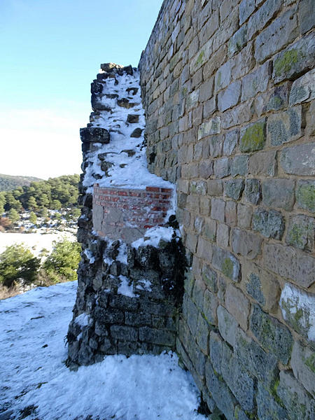
M 144 237 L 147 229 L 163 225 L 172 207 L 171 188 L 93 189 L 93 228 L 101 237 L 123 239 L 127 244 Z

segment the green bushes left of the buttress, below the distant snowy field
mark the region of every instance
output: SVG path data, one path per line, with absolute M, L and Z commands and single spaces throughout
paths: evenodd
M 7 289 L 31 283 L 50 286 L 76 280 L 80 249 L 78 242 L 68 239 L 55 242 L 52 252 L 41 264 L 41 258 L 36 258 L 24 244 L 7 246 L 0 254 L 0 286 Z M 47 254 L 48 251 L 43 250 L 41 257 Z

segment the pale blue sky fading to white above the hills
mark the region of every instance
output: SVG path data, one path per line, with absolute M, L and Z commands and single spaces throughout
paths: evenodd
M 99 64 L 137 66 L 162 0 L 1 0 L 1 174 L 80 172 Z

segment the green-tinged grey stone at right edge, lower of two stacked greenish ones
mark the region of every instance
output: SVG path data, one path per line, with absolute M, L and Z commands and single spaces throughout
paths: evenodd
M 314 248 L 314 218 L 304 215 L 297 215 L 290 218 L 286 243 L 306 251 Z

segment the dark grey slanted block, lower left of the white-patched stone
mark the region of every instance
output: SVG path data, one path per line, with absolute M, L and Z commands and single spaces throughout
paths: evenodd
M 284 365 L 288 364 L 293 346 L 293 338 L 288 328 L 276 318 L 263 312 L 257 305 L 253 307 L 250 327 L 253 335 L 265 349 L 271 351 Z

